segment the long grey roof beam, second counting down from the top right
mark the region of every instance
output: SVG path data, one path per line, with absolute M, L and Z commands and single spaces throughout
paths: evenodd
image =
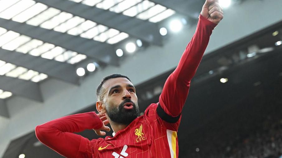
M 110 28 L 120 30 L 146 42 L 162 45 L 162 38 L 159 33 L 158 26 L 148 20 L 141 20 L 135 17 L 118 14 L 112 11 L 68 0 L 35 1 L 84 19 L 97 22 Z

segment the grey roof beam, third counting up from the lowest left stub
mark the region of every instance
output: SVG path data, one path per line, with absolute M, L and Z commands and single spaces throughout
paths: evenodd
M 56 79 L 72 84 L 79 84 L 75 66 L 72 64 L 45 59 L 40 56 L 32 56 L 16 51 L 0 48 L 0 59 L 27 69 L 35 70 Z

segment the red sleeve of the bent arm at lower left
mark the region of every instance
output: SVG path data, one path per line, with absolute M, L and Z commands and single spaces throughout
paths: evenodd
M 102 120 L 95 112 L 69 115 L 36 126 L 35 134 L 38 140 L 68 158 L 91 157 L 85 152 L 90 141 L 74 132 L 85 129 L 99 129 Z M 90 154 L 90 155 L 89 155 Z

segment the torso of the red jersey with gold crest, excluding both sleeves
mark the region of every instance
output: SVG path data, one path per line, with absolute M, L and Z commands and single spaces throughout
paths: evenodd
M 157 104 L 151 104 L 144 115 L 118 131 L 114 137 L 92 141 L 84 138 L 81 151 L 88 151 L 89 157 L 97 158 L 177 157 L 176 131 L 180 119 L 176 123 L 168 123 L 160 118 L 156 108 Z

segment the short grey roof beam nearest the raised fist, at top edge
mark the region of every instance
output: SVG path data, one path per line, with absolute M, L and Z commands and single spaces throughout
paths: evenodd
M 160 4 L 176 12 L 198 19 L 205 0 L 150 0 L 156 4 Z

